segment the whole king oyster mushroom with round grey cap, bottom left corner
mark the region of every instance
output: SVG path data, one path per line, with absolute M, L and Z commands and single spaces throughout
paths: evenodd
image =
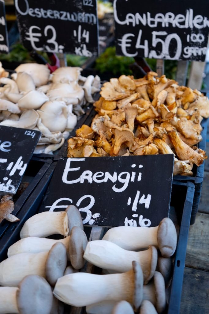
M 53 294 L 48 282 L 26 276 L 18 287 L 0 287 L 0 314 L 51 314 Z

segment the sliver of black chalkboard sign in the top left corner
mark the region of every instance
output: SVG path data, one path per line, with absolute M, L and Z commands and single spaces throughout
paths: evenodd
M 0 53 L 9 52 L 7 23 L 5 18 L 5 4 L 0 0 Z

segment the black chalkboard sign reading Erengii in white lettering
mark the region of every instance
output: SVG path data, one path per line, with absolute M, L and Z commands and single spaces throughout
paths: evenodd
M 85 225 L 157 226 L 168 217 L 174 155 L 61 158 L 45 210 L 79 208 Z

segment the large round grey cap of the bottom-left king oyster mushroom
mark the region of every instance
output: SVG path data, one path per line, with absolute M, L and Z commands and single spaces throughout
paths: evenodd
M 19 283 L 17 304 L 20 314 L 50 314 L 52 301 L 51 287 L 43 277 L 29 275 Z

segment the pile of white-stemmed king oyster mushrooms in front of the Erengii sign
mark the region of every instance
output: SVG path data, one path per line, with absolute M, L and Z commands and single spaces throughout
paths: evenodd
M 54 234 L 64 238 L 50 239 Z M 87 242 L 81 214 L 70 205 L 62 212 L 32 216 L 20 238 L 0 263 L 0 314 L 63 314 L 58 300 L 86 306 L 88 314 L 165 310 L 165 288 L 170 284 L 177 243 L 169 218 L 156 227 L 111 228 L 102 240 Z M 86 261 L 103 268 L 103 274 L 79 272 Z M 49 285 L 54 289 L 54 302 Z M 40 293 L 35 292 L 39 289 Z M 122 305 L 125 312 L 121 312 Z

